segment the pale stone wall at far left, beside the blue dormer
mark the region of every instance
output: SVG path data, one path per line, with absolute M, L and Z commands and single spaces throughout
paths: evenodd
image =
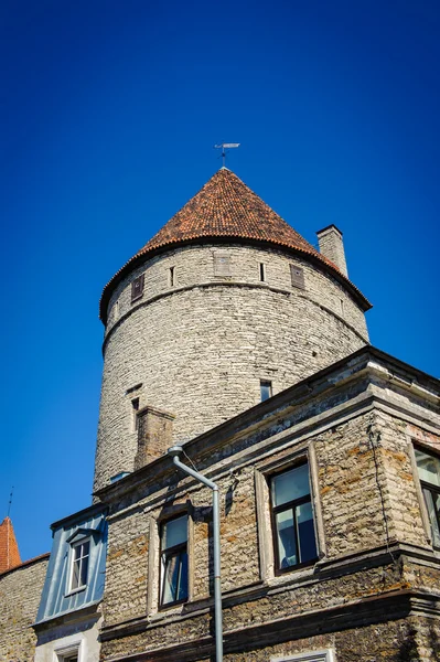
M 32 662 L 35 622 L 49 557 L 40 557 L 0 575 L 0 660 Z

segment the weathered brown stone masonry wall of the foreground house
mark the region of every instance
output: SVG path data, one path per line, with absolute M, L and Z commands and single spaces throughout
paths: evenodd
M 277 426 L 273 431 L 279 429 Z M 270 517 L 265 515 L 269 514 L 268 491 L 262 496 L 258 493 L 256 478 L 260 474 L 266 482 L 273 471 L 271 467 L 279 471 L 291 466 L 292 458 L 303 459 L 311 446 L 314 452 L 309 452 L 310 471 L 318 485 L 312 491 L 312 502 L 320 548 L 325 551 L 323 560 L 336 562 L 374 548 L 385 549 L 396 541 L 428 549 L 406 429 L 399 419 L 373 410 L 312 435 L 307 441 L 283 444 L 279 450 L 257 460 L 253 455 L 247 457 L 242 439 L 240 460 L 234 461 L 233 472 L 228 471 L 227 458 L 234 460 L 237 451 L 234 446 L 224 447 L 222 466 L 216 470 L 211 467 L 214 471 L 210 471 L 210 478 L 221 490 L 226 638 L 228 632 L 258 624 L 264 627 L 273 619 L 291 618 L 304 611 L 323 615 L 330 609 L 356 606 L 364 598 L 372 600 L 410 587 L 428 595 L 439 586 L 437 567 L 428 567 L 426 563 L 419 565 L 418 560 L 403 563 L 397 558 L 385 565 L 369 565 L 364 560 L 363 565 L 352 569 L 341 566 L 340 570 L 326 574 L 321 574 L 320 564 L 281 576 L 273 573 L 271 524 Z M 379 437 L 377 433 L 380 433 Z M 142 487 L 138 487 L 137 493 L 130 493 L 127 501 L 118 501 L 112 506 L 104 613 L 106 626 L 146 617 L 149 624 L 136 636 L 105 641 L 104 659 L 127 651 L 160 650 L 178 641 L 197 640 L 210 632 L 206 606 L 212 590 L 208 575 L 212 572 L 211 491 L 182 476 L 173 476 L 173 472 L 157 473 L 153 482 L 144 481 L 139 485 Z M 190 600 L 183 606 L 160 610 L 158 531 L 161 519 L 170 516 L 175 508 L 185 509 L 191 517 Z M 319 522 L 318 512 L 322 512 Z M 383 616 L 376 618 L 388 619 L 386 610 L 384 606 Z M 319 648 L 335 647 L 339 662 L 357 659 L 409 661 L 412 658 L 398 656 L 400 644 L 405 647 L 409 641 L 411 628 L 408 623 L 382 623 L 375 629 L 353 630 L 350 620 L 345 619 L 347 630 L 329 636 L 325 645 L 322 643 Z M 417 641 L 415 639 L 419 656 L 414 660 L 425 662 L 429 656 L 426 651 L 423 653 L 428 645 L 422 642 L 423 637 L 420 634 Z M 310 650 L 307 645 L 308 641 L 300 641 L 226 659 L 268 660 L 268 652 Z

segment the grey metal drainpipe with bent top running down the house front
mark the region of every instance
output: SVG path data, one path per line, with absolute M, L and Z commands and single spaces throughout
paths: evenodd
M 172 446 L 168 453 L 173 458 L 174 465 L 184 473 L 208 487 L 213 491 L 213 528 L 214 528 L 214 620 L 215 620 L 215 660 L 223 662 L 223 626 L 222 626 L 222 584 L 221 584 L 221 545 L 219 545 L 219 503 L 218 485 L 208 480 L 198 471 L 183 465 L 179 456 L 183 453 L 181 446 Z

